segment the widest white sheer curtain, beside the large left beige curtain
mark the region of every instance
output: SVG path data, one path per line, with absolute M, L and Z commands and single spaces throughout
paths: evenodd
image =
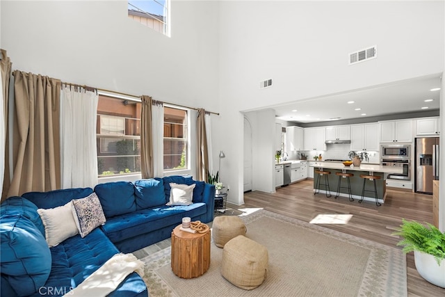
M 97 184 L 97 92 L 64 85 L 60 93 L 62 188 Z

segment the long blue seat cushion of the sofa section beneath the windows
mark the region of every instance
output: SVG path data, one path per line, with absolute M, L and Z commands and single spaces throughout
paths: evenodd
M 149 232 L 179 224 L 183 216 L 194 218 L 205 214 L 206 211 L 207 205 L 204 203 L 141 209 L 132 214 L 109 218 L 102 226 L 102 230 L 111 241 L 116 243 L 140 234 L 149 236 Z

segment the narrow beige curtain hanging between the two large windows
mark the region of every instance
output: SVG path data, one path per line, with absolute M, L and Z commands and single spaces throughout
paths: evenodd
M 141 96 L 140 110 L 140 172 L 143 179 L 154 177 L 152 137 L 152 97 Z

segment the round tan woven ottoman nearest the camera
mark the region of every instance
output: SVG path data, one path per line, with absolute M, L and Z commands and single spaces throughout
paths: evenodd
M 266 279 L 268 262 L 264 246 L 239 235 L 224 246 L 221 274 L 236 287 L 252 290 Z

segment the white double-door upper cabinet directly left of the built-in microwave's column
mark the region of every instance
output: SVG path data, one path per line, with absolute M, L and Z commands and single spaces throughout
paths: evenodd
M 378 123 L 350 126 L 351 150 L 379 150 Z

